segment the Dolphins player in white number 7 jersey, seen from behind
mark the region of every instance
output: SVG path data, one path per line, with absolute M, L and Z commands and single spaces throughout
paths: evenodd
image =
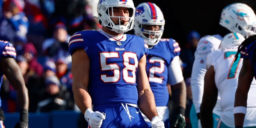
M 220 93 L 220 107 L 222 113 L 216 128 L 234 128 L 234 98 L 238 85 L 238 74 L 240 73 L 243 59 L 234 61 L 238 46 L 244 41 L 239 33 L 230 33 L 224 36 L 220 49 L 208 54 L 206 58 L 206 74 L 204 78 L 204 93 L 200 109 L 202 128 L 213 126 L 212 110 L 216 104 L 218 92 Z M 246 114 L 244 126 L 256 126 L 256 81 L 253 80 L 248 94 L 248 113 Z M 253 111 L 254 110 L 254 111 Z M 215 127 L 214 127 L 215 128 Z

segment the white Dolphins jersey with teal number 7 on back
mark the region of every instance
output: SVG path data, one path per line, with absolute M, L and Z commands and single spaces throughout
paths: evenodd
M 208 54 L 206 59 L 206 68 L 210 66 L 214 66 L 215 71 L 215 84 L 218 88 L 218 92 L 220 94 L 220 108 L 222 113 L 220 115 L 220 119 L 224 124 L 229 127 L 234 126 L 234 100 L 236 88 L 238 85 L 238 76 L 239 72 L 242 68 L 242 61 L 240 60 L 234 61 L 234 56 L 238 50 L 238 46 L 233 46 L 226 49 L 218 49 L 210 54 Z M 240 57 L 239 57 L 240 58 Z M 253 80 L 252 86 L 248 95 L 248 108 L 256 107 L 256 81 Z M 253 90 L 254 94 L 251 93 Z M 256 114 L 254 109 L 248 109 L 246 116 L 250 116 L 250 120 L 245 118 L 244 124 L 248 126 L 248 124 L 254 124 L 254 120 L 256 120 Z M 251 112 L 253 111 L 253 112 Z M 253 120 L 252 120 L 253 119 Z M 254 125 L 255 126 L 255 125 Z M 244 126 L 245 127 L 245 126 Z

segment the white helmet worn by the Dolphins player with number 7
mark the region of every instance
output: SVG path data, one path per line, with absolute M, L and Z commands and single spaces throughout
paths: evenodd
M 239 46 L 242 44 L 242 42 L 245 40 L 244 36 L 242 36 L 239 33 L 232 32 L 229 34 L 226 34 L 226 36 L 223 37 L 219 49 L 224 49 L 232 46 Z

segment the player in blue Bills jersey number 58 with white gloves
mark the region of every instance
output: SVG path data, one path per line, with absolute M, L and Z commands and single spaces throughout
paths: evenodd
M 132 0 L 100 0 L 101 30 L 76 32 L 69 43 L 74 100 L 90 128 L 164 128 L 146 75 L 148 45 L 131 30 Z

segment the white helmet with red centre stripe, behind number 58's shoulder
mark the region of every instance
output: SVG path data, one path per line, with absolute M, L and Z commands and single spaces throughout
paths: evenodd
M 164 15 L 156 4 L 151 2 L 144 2 L 136 7 L 134 18 L 134 34 L 144 38 L 149 46 L 158 44 L 164 32 Z M 144 25 L 158 25 L 158 31 L 146 30 Z M 154 38 L 150 38 L 153 35 Z

